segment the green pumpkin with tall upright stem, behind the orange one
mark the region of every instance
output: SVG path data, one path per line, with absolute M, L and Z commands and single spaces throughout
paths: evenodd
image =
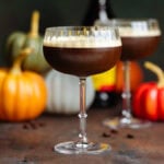
M 43 55 L 43 37 L 38 34 L 38 21 L 39 12 L 34 11 L 30 33 L 14 32 L 8 37 L 7 55 L 12 63 L 23 48 L 32 48 L 32 55 L 26 57 L 22 67 L 43 73 L 50 67 Z

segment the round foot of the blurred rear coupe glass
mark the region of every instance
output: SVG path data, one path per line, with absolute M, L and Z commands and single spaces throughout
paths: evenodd
M 138 119 L 138 118 L 113 118 L 113 119 L 105 119 L 103 121 L 104 126 L 107 126 L 112 129 L 118 128 L 131 128 L 131 129 L 140 129 L 140 128 L 148 128 L 151 126 L 151 121 Z

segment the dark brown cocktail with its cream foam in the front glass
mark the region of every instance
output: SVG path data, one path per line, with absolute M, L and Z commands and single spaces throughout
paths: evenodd
M 87 77 L 109 70 L 119 60 L 121 42 L 108 37 L 57 37 L 44 40 L 44 55 L 61 72 Z

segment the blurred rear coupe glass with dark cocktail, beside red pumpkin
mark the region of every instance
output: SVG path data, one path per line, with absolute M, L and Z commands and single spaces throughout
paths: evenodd
M 155 19 L 124 20 L 115 19 L 110 23 L 118 26 L 122 42 L 120 60 L 124 61 L 125 86 L 122 91 L 121 118 L 106 119 L 104 125 L 110 128 L 130 127 L 143 128 L 151 125 L 148 120 L 137 119 L 131 114 L 131 93 L 129 63 L 131 60 L 140 60 L 154 52 L 156 49 L 161 31 Z

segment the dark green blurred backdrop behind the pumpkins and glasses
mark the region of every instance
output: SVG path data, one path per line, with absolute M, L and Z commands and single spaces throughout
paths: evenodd
M 44 35 L 47 26 L 81 25 L 90 0 L 1 0 L 0 1 L 0 66 L 7 65 L 4 47 L 7 37 L 15 32 L 28 32 L 31 14 L 40 12 L 39 32 Z M 164 31 L 164 0 L 112 0 L 117 17 L 156 17 Z M 164 38 L 157 50 L 143 60 L 153 61 L 164 68 Z M 145 80 L 155 79 L 153 73 L 143 68 Z

